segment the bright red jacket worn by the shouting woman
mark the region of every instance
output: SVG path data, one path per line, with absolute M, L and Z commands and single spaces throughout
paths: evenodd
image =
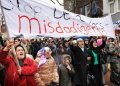
M 36 86 L 34 74 L 37 71 L 37 65 L 34 60 L 25 58 L 21 75 L 19 75 L 14 57 L 7 55 L 8 52 L 0 51 L 0 63 L 6 67 L 5 86 Z

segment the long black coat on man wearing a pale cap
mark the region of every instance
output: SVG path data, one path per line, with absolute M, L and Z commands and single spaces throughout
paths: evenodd
M 79 46 L 70 46 L 73 52 L 73 66 L 75 69 L 75 84 L 80 86 L 87 86 L 87 57 L 89 56 L 87 48 L 84 52 Z

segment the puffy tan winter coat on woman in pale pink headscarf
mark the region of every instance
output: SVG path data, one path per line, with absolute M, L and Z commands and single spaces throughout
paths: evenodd
M 40 58 L 36 58 L 40 59 Z M 42 64 L 35 74 L 37 86 L 49 85 L 52 82 L 59 82 L 57 66 L 53 57 L 47 59 L 46 63 Z

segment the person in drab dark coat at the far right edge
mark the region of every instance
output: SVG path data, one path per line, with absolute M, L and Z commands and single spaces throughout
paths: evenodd
M 109 44 L 107 46 L 107 53 L 110 56 L 110 81 L 117 85 L 120 84 L 120 74 L 119 74 L 119 47 L 115 42 L 115 39 L 110 38 Z

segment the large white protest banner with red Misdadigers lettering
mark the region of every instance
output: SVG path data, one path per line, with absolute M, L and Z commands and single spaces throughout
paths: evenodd
M 32 0 L 1 0 L 10 37 L 101 36 L 114 37 L 111 16 L 88 18 Z

